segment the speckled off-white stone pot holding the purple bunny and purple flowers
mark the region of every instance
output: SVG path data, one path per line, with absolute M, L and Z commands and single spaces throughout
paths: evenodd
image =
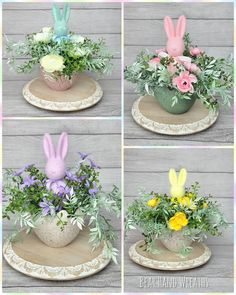
M 57 225 L 58 218 L 56 216 L 45 216 L 40 217 L 37 220 L 34 233 L 44 244 L 49 247 L 65 247 L 66 245 L 70 244 L 80 232 L 78 226 L 76 224 L 71 224 L 69 218 L 67 218 L 66 215 L 67 214 L 64 214 L 62 217 L 64 220 L 68 221 L 63 230 L 61 230 L 60 226 Z

